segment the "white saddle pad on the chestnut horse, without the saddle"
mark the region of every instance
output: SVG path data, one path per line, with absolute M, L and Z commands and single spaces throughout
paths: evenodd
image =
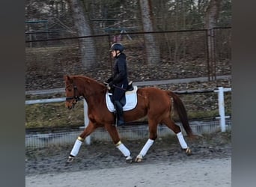
M 127 91 L 125 93 L 125 97 L 127 102 L 125 103 L 123 110 L 124 111 L 129 111 L 132 110 L 133 108 L 135 108 L 135 106 L 137 105 L 137 86 L 133 86 L 133 90 L 132 91 Z M 110 99 L 110 95 L 112 95 L 112 93 L 107 92 L 106 93 L 106 105 L 109 109 L 109 111 L 113 112 L 115 111 L 115 106 L 113 105 L 111 99 Z

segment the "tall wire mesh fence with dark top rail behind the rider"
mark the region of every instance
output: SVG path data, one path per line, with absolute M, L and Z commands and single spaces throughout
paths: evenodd
M 231 29 L 215 31 L 214 59 L 207 51 L 207 30 L 27 40 L 26 91 L 38 90 L 39 85 L 40 89 L 62 88 L 66 74 L 105 81 L 112 74 L 109 48 L 114 41 L 125 46 L 129 79 L 134 82 L 231 74 Z M 149 36 L 156 42 L 149 43 Z M 152 48 L 157 52 L 150 54 Z

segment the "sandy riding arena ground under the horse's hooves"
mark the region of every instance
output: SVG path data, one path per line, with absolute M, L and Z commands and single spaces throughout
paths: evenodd
M 122 141 L 135 158 L 147 139 Z M 72 163 L 73 144 L 27 149 L 26 186 L 231 186 L 231 132 L 186 141 L 191 156 L 168 136 L 156 139 L 141 163 L 126 163 L 111 142 L 82 144 Z

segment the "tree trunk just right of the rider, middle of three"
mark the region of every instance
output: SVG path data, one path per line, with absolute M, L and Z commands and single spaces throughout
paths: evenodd
M 153 13 L 150 0 L 140 0 L 141 20 L 144 31 L 153 31 Z M 158 64 L 160 62 L 159 46 L 153 34 L 144 34 L 145 47 L 147 51 L 147 63 Z

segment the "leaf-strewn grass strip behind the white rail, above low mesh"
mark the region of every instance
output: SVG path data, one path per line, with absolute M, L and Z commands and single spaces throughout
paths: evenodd
M 214 118 L 219 116 L 218 97 L 216 93 L 200 93 L 180 95 L 188 112 L 189 119 Z M 64 97 L 62 94 L 55 96 L 26 96 L 26 99 L 49 99 Z M 231 93 L 225 93 L 225 114 L 231 115 Z M 173 119 L 179 121 L 177 114 Z M 138 121 L 147 121 L 144 117 Z M 68 110 L 64 102 L 25 105 L 25 128 L 40 127 L 77 127 L 84 125 L 84 105 L 77 102 L 76 107 Z

